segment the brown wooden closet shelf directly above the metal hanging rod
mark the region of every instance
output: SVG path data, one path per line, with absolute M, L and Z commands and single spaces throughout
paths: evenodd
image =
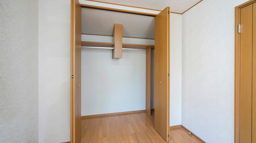
M 105 43 L 105 42 L 89 42 L 81 41 L 82 46 L 89 47 L 113 47 L 115 43 Z M 150 49 L 155 50 L 155 45 L 141 45 L 141 44 L 122 44 L 122 48 L 131 48 L 131 49 Z

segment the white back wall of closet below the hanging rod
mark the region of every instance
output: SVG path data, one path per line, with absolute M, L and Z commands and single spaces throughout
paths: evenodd
M 146 52 L 82 48 L 81 116 L 145 110 Z

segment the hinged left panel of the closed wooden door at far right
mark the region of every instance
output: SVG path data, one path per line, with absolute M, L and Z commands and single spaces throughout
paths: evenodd
M 251 142 L 252 5 L 241 8 L 240 142 Z

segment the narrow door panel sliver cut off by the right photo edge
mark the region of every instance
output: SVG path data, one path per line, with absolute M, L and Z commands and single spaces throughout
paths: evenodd
M 256 3 L 253 4 L 252 19 L 252 143 L 256 143 Z

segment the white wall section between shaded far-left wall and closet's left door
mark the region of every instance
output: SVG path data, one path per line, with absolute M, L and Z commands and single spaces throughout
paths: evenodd
M 70 1 L 39 0 L 39 142 L 70 141 Z

